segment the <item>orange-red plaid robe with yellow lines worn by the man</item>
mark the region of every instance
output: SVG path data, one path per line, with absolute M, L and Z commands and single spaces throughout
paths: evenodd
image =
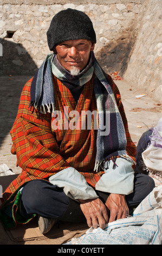
M 128 131 L 128 124 L 118 88 L 108 76 L 115 99 L 125 126 L 127 153 L 135 160 L 136 148 Z M 31 113 L 30 86 L 31 78 L 24 86 L 15 123 L 11 130 L 11 153 L 17 155 L 17 166 L 22 173 L 11 182 L 3 194 L 4 203 L 13 202 L 17 191 L 26 182 L 34 179 L 48 180 L 51 175 L 73 166 L 85 176 L 90 186 L 95 187 L 103 172 L 93 172 L 95 162 L 95 131 L 53 130 L 54 118 L 51 114 L 36 111 Z M 62 111 L 66 105 L 75 109 L 76 103 L 72 94 L 59 80 L 54 78 L 56 109 Z M 96 109 L 93 94 L 93 80 L 85 84 L 76 110 Z M 92 120 L 93 121 L 93 120 Z M 61 145 L 60 145 L 61 144 Z M 60 145 L 60 146 L 59 146 Z

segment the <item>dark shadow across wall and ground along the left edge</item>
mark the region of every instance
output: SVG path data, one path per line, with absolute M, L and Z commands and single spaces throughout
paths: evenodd
M 0 44 L 2 47 L 2 56 L 0 56 L 1 146 L 14 124 L 23 86 L 35 74 L 37 66 L 21 44 L 2 38 L 0 38 Z

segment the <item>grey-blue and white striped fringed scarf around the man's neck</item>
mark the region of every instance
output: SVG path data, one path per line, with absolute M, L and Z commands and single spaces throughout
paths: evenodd
M 67 70 L 58 64 L 55 54 L 49 54 L 31 83 L 30 107 L 33 107 L 33 111 L 35 108 L 40 109 L 43 113 L 55 111 L 52 72 L 57 78 L 65 82 L 67 87 L 74 87 L 75 84 L 81 86 L 90 80 L 94 74 L 94 92 L 99 118 L 94 170 L 98 172 L 100 168 L 107 169 L 109 160 L 114 161 L 115 168 L 116 157 L 125 158 L 133 164 L 133 160 L 126 153 L 126 133 L 113 90 L 109 85 L 108 76 L 95 59 L 94 53 L 91 54 L 87 68 L 77 77 L 72 77 Z M 108 120 L 108 125 L 106 130 L 103 130 L 103 124 L 106 123 L 106 120 Z

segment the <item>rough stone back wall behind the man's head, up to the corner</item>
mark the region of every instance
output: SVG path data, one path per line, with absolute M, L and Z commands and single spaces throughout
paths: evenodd
M 102 67 L 124 74 L 134 45 L 135 24 L 144 1 L 1 1 L 0 74 L 34 74 L 49 53 L 47 30 L 52 17 L 60 10 L 84 11 L 96 31 L 96 57 Z M 0 3 L 1 3 L 0 2 Z

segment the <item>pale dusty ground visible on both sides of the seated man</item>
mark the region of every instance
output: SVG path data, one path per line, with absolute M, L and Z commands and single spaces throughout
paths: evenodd
M 16 167 L 16 156 L 10 153 L 12 142 L 9 132 L 17 114 L 22 88 L 29 78 L 31 77 L 0 76 L 0 164 L 7 164 L 15 174 L 20 173 L 21 169 Z M 133 142 L 137 145 L 142 133 L 152 125 L 156 125 L 161 118 L 162 106 L 148 95 L 137 99 L 135 96 L 145 94 L 142 87 L 137 89 L 135 84 L 128 84 L 125 80 L 114 80 L 114 82 L 121 93 L 122 103 L 128 119 L 129 132 Z M 0 234 L 2 237 L 1 225 Z M 6 234 L 4 234 L 5 239 L 6 237 Z

